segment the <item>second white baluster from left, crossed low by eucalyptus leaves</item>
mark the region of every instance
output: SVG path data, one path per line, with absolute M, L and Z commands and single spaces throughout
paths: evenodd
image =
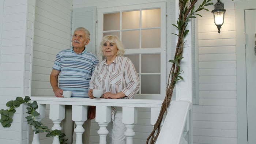
M 60 122 L 65 118 L 65 105 L 50 105 L 49 118 L 53 122 L 52 130 L 61 130 Z M 52 144 L 60 144 L 59 138 L 54 136 Z

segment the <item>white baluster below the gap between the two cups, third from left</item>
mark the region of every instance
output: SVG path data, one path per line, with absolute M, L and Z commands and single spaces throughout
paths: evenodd
M 72 105 L 72 121 L 75 121 L 76 144 L 83 144 L 82 134 L 84 132 L 83 124 L 87 120 L 87 106 Z

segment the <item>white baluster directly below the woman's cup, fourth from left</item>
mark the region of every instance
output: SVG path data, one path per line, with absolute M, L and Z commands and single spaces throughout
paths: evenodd
M 96 106 L 96 122 L 98 122 L 100 128 L 99 144 L 106 144 L 106 136 L 109 133 L 106 126 L 111 121 L 111 107 L 110 106 Z

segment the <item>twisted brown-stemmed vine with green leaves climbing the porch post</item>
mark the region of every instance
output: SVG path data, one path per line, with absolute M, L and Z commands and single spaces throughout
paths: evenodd
M 176 21 L 177 24 L 172 24 L 174 27 L 178 29 L 178 34 L 174 34 L 178 36 L 178 42 L 176 45 L 176 51 L 174 55 L 173 60 L 169 60 L 171 62 L 171 70 L 169 73 L 168 81 L 167 81 L 167 88 L 166 88 L 166 95 L 165 99 L 163 100 L 161 110 L 158 115 L 158 119 L 155 122 L 154 129 L 150 133 L 150 135 L 147 138 L 146 144 L 148 144 L 150 140 L 150 144 L 154 144 L 157 140 L 157 137 L 160 132 L 160 125 L 161 121 L 163 119 L 163 114 L 167 113 L 167 107 L 170 104 L 174 86 L 177 83 L 178 80 L 183 80 L 183 77 L 180 76 L 181 69 L 180 69 L 180 61 L 182 60 L 182 52 L 183 52 L 183 46 L 186 41 L 184 41 L 184 38 L 188 35 L 189 30 L 186 29 L 188 25 L 188 20 L 191 18 L 196 18 L 195 15 L 201 16 L 197 14 L 196 12 L 199 12 L 201 10 L 207 10 L 205 7 L 208 5 L 213 5 L 213 3 L 210 3 L 211 0 L 203 0 L 202 4 L 199 5 L 199 7 L 195 10 L 195 4 L 197 0 L 179 0 L 179 10 L 180 14 L 178 17 L 178 20 Z M 202 16 L 201 16 L 202 17 Z

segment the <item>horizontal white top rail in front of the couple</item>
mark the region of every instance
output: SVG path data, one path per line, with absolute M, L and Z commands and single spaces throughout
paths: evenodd
M 162 100 L 153 99 L 102 99 L 102 98 L 56 98 L 32 96 L 31 101 L 38 104 L 85 105 L 85 106 L 120 106 L 161 108 Z

